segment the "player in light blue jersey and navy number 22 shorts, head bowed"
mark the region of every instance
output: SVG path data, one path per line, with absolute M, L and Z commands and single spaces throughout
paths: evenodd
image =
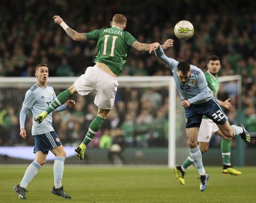
M 170 42 L 173 42 L 173 40 L 169 39 L 165 44 L 170 44 Z M 149 49 L 150 53 L 155 51 L 157 58 L 172 70 L 177 89 L 182 98 L 181 105 L 185 108 L 186 133 L 190 156 L 200 174 L 200 191 L 202 192 L 207 188 L 209 178 L 209 174 L 205 172 L 203 167 L 202 154 L 197 145 L 197 137 L 203 115 L 216 123 L 219 130 L 228 138 L 240 134 L 243 141 L 246 144 L 250 144 L 250 135 L 242 124 L 230 126 L 227 116 L 219 106 L 218 100 L 207 87 L 205 74 L 201 69 L 190 65 L 187 61 L 177 62 L 175 59 L 168 58 L 159 43 L 150 44 Z M 174 172 L 178 180 L 183 178 L 184 174 L 181 171 L 175 170 Z

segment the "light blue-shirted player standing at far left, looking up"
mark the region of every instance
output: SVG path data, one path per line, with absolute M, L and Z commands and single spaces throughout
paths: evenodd
M 54 89 L 47 85 L 48 74 L 47 64 L 37 65 L 35 72 L 37 83 L 26 92 L 22 110 L 20 112 L 20 136 L 24 139 L 26 139 L 26 113 L 28 109 L 31 109 L 33 113 L 32 135 L 35 140 L 34 153 L 36 154 L 35 160 L 27 168 L 20 184 L 13 188 L 20 199 L 28 199 L 25 194 L 27 192 L 26 187 L 35 177 L 37 171 L 46 162 L 46 157 L 49 151 L 55 155 L 53 165 L 54 186 L 51 189 L 51 193 L 66 199 L 72 198 L 63 190 L 61 183 L 66 152 L 63 149 L 58 135 L 52 127 L 52 114 L 49 114 L 45 119 L 45 122 L 41 125 L 34 121 L 35 115 L 43 111 L 56 98 Z M 69 100 L 67 105 L 61 105 L 55 110 L 64 111 L 70 109 L 74 105 L 76 105 L 75 101 Z

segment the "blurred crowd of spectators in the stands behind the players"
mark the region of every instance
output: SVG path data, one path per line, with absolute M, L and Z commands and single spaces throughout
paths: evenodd
M 39 4 L 36 0 L 1 0 L 0 78 L 34 76 L 39 63 L 49 65 L 50 77 L 80 76 L 85 67 L 93 65 L 96 43 L 71 40 L 54 24 L 52 17 L 60 15 L 71 28 L 86 33 L 110 27 L 113 15 L 121 13 L 128 21 L 125 30 L 139 42 L 164 43 L 171 38 L 175 40 L 174 46 L 165 51 L 167 56 L 177 61 L 186 59 L 206 71 L 208 57 L 216 54 L 222 63 L 220 76 L 241 75 L 243 123 L 256 136 L 256 14 L 250 4 L 254 3 L 247 0 L 227 0 L 221 4 L 199 0 L 44 0 Z M 183 19 L 194 25 L 194 36 L 187 41 L 178 40 L 173 32 L 175 24 Z M 168 76 L 172 72 L 154 53 L 128 48 L 122 75 Z M 230 123 L 236 122 L 237 95 L 232 94 L 232 83 L 220 89 L 233 96 L 233 108 L 227 114 Z M 167 93 L 162 94 L 163 91 Z M 7 94 L 0 89 L 0 145 L 33 145 L 29 136 L 31 114 L 26 121 L 28 140 L 18 139 L 18 116 L 24 97 L 17 98 L 16 106 L 12 106 L 6 102 L 13 100 L 7 100 Z M 73 110 L 54 113 L 54 128 L 58 129 L 63 144 L 77 145 L 84 138 L 88 123 L 97 113 L 93 96 L 77 96 Z M 167 112 L 165 88 L 143 91 L 122 88 L 117 92 L 117 101 L 106 124 L 90 145 L 106 147 L 110 145 L 108 141 L 123 136 L 125 139 L 121 141 L 126 146 L 166 146 Z M 112 139 L 105 139 L 99 145 L 102 135 Z M 254 139 L 252 145 L 256 145 Z

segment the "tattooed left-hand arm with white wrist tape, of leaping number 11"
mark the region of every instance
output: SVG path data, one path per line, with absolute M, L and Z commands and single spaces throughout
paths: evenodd
M 85 41 L 87 40 L 86 33 L 77 33 L 77 31 L 69 28 L 69 26 L 63 21 L 59 15 L 53 16 L 55 24 L 62 26 L 66 31 L 67 35 L 74 41 Z

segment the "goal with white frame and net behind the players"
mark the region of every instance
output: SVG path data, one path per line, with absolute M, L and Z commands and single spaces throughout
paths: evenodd
M 48 85 L 56 95 L 70 87 L 77 77 L 49 77 Z M 233 84 L 232 97 L 241 95 L 241 77 L 219 77 L 224 85 Z M 26 117 L 27 139 L 19 137 L 19 112 L 26 91 L 35 77 L 0 80 L 0 156 L 3 147 L 33 146 L 31 111 Z M 184 109 L 172 76 L 120 76 L 113 109 L 95 138 L 89 143 L 84 163 L 168 165 L 174 167 L 189 155 Z M 234 92 L 235 91 L 235 92 Z M 53 127 L 62 141 L 67 157 L 81 143 L 88 125 L 97 114 L 95 93 L 72 97 L 77 105 L 64 112 L 53 112 Z M 239 99 L 238 99 L 239 100 Z M 239 105 L 238 103 L 238 108 Z M 5 149 L 11 150 L 11 149 Z M 30 151 L 33 155 L 33 153 Z M 17 153 L 16 153 L 17 154 Z M 11 155 L 10 155 L 11 156 Z M 71 153 L 70 156 L 74 156 Z M 33 157 L 34 158 L 34 157 Z M 69 158 L 68 163 L 77 163 Z M 67 159 L 68 160 L 68 159 Z

